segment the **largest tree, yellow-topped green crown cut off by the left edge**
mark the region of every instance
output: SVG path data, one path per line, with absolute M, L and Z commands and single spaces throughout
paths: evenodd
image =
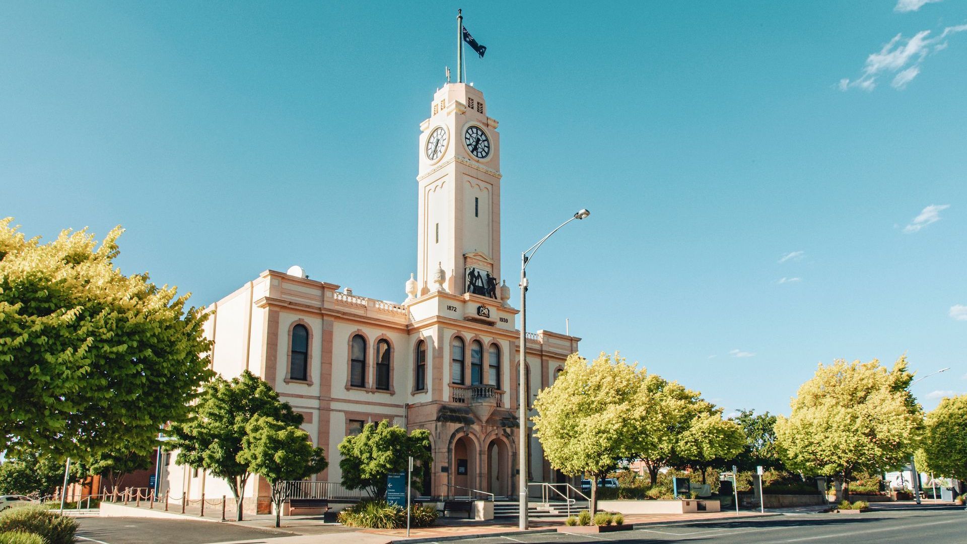
M 183 419 L 208 369 L 189 295 L 125 276 L 102 244 L 64 230 L 41 244 L 0 220 L 0 450 L 83 459 Z

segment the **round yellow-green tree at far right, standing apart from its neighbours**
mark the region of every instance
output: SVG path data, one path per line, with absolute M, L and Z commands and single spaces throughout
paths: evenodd
M 906 357 L 892 369 L 877 360 L 819 365 L 799 388 L 776 438 L 786 466 L 842 482 L 849 497 L 856 472 L 882 472 L 908 462 L 923 431 L 923 410 L 908 390 Z

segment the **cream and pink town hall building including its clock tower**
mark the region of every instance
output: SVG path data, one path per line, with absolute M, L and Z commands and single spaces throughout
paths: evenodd
M 416 269 L 401 303 L 293 266 L 266 270 L 208 307 L 213 369 L 224 378 L 249 370 L 305 416 L 303 428 L 330 461 L 319 481 L 340 481 L 344 437 L 389 419 L 430 432 L 425 496 L 516 495 L 518 311 L 501 268 L 500 134 L 488 106 L 473 85 L 447 83 L 420 124 Z M 527 334 L 530 404 L 580 339 Z M 537 438 L 530 451 L 529 481 L 565 481 Z M 218 478 L 167 457 L 162 480 L 172 496 L 231 495 Z M 249 480 L 246 510 L 268 508 L 259 480 Z

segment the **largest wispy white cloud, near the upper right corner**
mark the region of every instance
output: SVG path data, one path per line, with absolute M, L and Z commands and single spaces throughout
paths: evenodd
M 920 1 L 922 0 L 910 0 L 907 3 Z M 903 3 L 904 0 L 900 0 L 900 4 Z M 900 4 L 897 4 L 897 7 Z M 922 6 L 923 3 L 920 5 Z M 967 30 L 967 24 L 948 26 L 936 38 L 930 38 L 929 30 L 922 30 L 912 38 L 906 39 L 902 34 L 897 34 L 893 40 L 883 45 L 879 52 L 871 53 L 866 57 L 866 64 L 860 77 L 853 80 L 848 77 L 840 79 L 839 90 L 847 91 L 852 87 L 859 87 L 864 91 L 872 91 L 876 88 L 877 78 L 885 74 L 895 74 L 891 85 L 894 89 L 903 89 L 920 74 L 920 66 L 928 54 L 947 48 L 948 44 L 943 40 L 964 30 Z

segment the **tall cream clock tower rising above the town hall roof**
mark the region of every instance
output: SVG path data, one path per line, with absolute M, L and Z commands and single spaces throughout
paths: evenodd
M 420 124 L 417 288 L 499 298 L 500 135 L 484 93 L 447 83 Z M 445 279 L 438 280 L 438 268 Z

